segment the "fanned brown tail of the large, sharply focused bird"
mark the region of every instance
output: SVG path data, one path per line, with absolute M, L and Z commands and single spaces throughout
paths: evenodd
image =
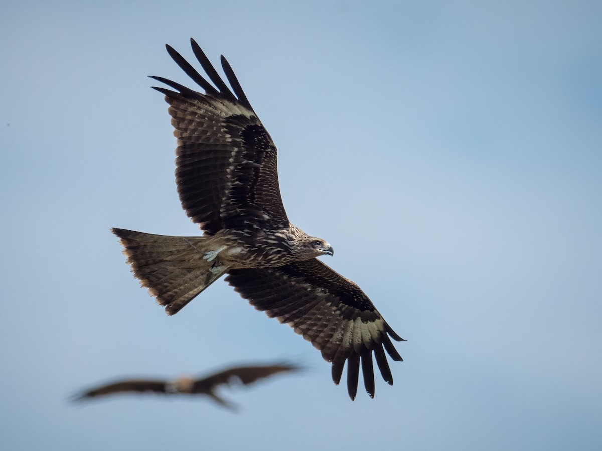
M 219 259 L 203 258 L 213 250 L 211 237 L 155 235 L 116 227 L 111 232 L 119 236 L 135 277 L 170 315 L 228 269 L 220 266 Z

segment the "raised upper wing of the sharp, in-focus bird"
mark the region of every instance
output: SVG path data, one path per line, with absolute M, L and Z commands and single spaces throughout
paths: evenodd
M 209 235 L 223 228 L 287 227 L 272 138 L 228 61 L 222 56 L 222 68 L 234 93 L 199 45 L 190 41 L 215 87 L 169 45 L 166 48 L 170 57 L 205 93 L 152 77 L 175 90 L 154 87 L 166 96 L 173 134 L 178 138 L 176 184 L 182 207 Z

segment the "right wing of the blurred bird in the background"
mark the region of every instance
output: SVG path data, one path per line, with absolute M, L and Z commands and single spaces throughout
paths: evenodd
M 229 368 L 206 378 L 197 379 L 194 382 L 193 389 L 190 393 L 209 393 L 216 388 L 217 385 L 230 384 L 236 379 L 243 385 L 249 385 L 259 379 L 265 379 L 278 373 L 298 370 L 300 370 L 300 367 L 284 363 L 267 366 L 240 366 Z

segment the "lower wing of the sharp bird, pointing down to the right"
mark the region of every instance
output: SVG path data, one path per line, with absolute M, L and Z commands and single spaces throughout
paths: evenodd
M 226 281 L 258 310 L 294 327 L 296 333 L 320 349 L 332 362 L 332 380 L 338 384 L 347 361 L 347 390 L 358 390 L 361 359 L 364 385 L 374 397 L 372 352 L 380 374 L 393 385 L 385 351 L 402 357 L 389 339 L 402 341 L 386 324 L 368 296 L 352 281 L 317 259 L 276 268 L 231 269 Z

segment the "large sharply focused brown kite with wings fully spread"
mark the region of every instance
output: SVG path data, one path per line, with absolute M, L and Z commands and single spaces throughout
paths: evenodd
M 276 146 L 222 56 L 232 88 L 199 45 L 193 53 L 207 81 L 169 45 L 170 57 L 199 85 L 199 93 L 166 78 L 165 95 L 177 138 L 176 185 L 182 207 L 203 236 L 168 236 L 113 228 L 135 277 L 167 314 L 178 312 L 222 274 L 258 310 L 294 328 L 332 363 L 338 384 L 347 362 L 347 391 L 355 399 L 361 364 L 374 397 L 372 354 L 389 384 L 385 350 L 402 361 L 391 338 L 403 339 L 353 281 L 316 257 L 334 253 L 323 238 L 291 224 L 282 204 Z

